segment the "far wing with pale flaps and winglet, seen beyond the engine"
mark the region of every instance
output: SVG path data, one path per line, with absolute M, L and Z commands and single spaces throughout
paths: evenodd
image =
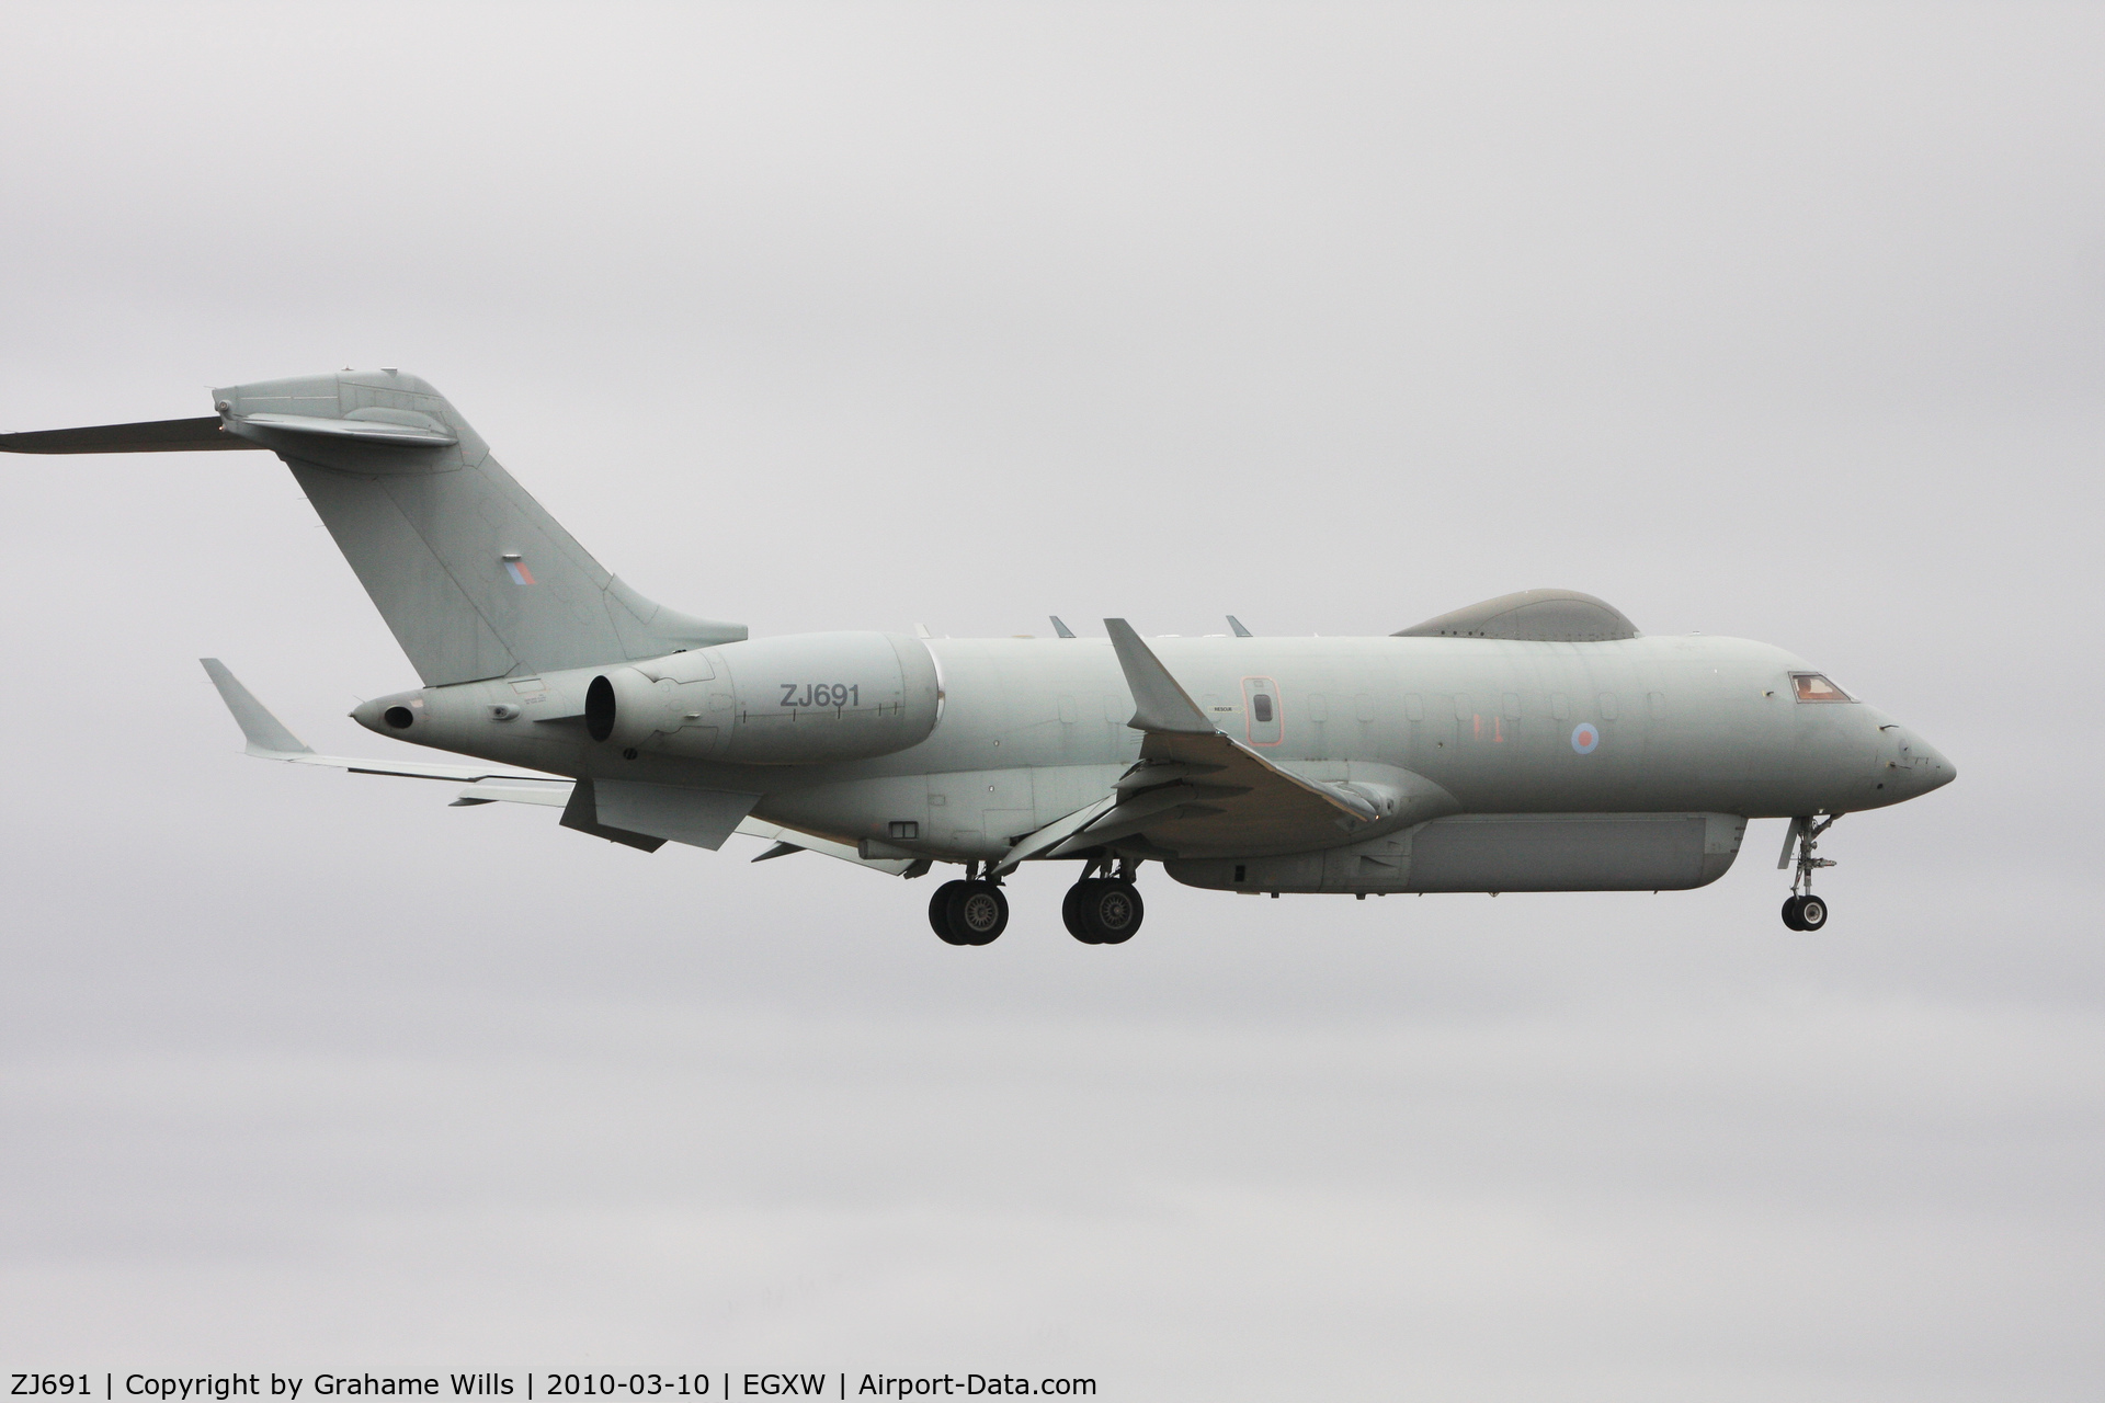
M 240 677 L 227 671 L 227 665 L 219 658 L 198 658 L 204 663 L 206 675 L 213 686 L 219 688 L 221 700 L 227 703 L 227 711 L 234 713 L 236 726 L 242 728 L 242 738 L 248 743 L 244 749 L 257 759 L 280 759 L 297 766 L 322 766 L 328 770 L 349 770 L 352 774 L 396 774 L 404 778 L 419 780 L 459 780 L 463 782 L 459 795 L 453 799 L 455 808 L 467 808 L 478 804 L 539 804 L 545 808 L 556 808 L 564 812 L 564 827 L 592 833 L 596 837 L 606 837 L 617 843 L 627 843 L 629 848 L 642 848 L 644 852 L 655 852 L 663 846 L 663 837 L 648 833 L 634 833 L 627 829 L 613 829 L 596 822 L 598 814 L 583 816 L 573 812 L 573 797 L 577 795 L 577 780 L 560 774 L 537 774 L 533 770 L 505 770 L 501 766 L 448 766 L 432 761 L 381 761 L 381 759 L 354 759 L 349 755 L 316 755 L 299 736 L 286 730 L 284 721 L 269 713 L 269 709 L 255 698 L 255 694 L 242 686 Z M 741 795 L 743 797 L 743 795 Z M 848 843 L 838 843 L 829 837 L 819 837 L 815 833 L 802 833 L 798 829 L 785 829 L 775 822 L 762 822 L 760 818 L 741 816 L 737 827 L 720 829 L 722 835 L 739 833 L 743 837 L 770 839 L 775 846 L 762 852 L 754 862 L 766 862 L 768 858 L 785 858 L 794 852 L 817 852 L 842 862 L 853 862 L 855 867 L 867 867 L 869 871 L 884 873 L 888 877 L 920 877 L 928 871 L 926 860 L 893 860 L 893 858 L 865 858 L 861 852 Z M 716 839 L 722 841 L 722 839 Z M 918 871 L 916 871 L 918 869 Z

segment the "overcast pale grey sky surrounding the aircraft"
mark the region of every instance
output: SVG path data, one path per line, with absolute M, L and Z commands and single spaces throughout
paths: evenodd
M 756 633 L 1535 585 L 1960 768 L 1678 896 L 642 856 L 238 757 L 415 677 L 263 454 L 0 463 L 0 1369 L 2105 1384 L 2097 6 L 0 11 L 0 429 L 432 379 Z

